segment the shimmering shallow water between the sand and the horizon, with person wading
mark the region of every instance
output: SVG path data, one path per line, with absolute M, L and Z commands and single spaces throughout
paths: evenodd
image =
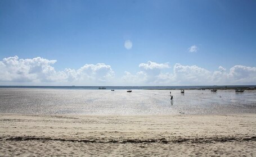
M 172 91 L 173 101 L 169 92 Z M 0 113 L 170 115 L 256 113 L 256 90 L 0 89 Z

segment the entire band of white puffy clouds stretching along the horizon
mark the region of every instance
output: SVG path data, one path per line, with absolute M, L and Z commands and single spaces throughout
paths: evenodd
M 173 68 L 169 63 L 148 61 L 140 63 L 138 71 L 124 72 L 115 78 L 110 65 L 104 63 L 84 64 L 77 70 L 66 68 L 56 71 L 53 65 L 56 60 L 41 57 L 19 59 L 3 58 L 0 61 L 0 85 L 255 85 L 256 67 L 235 65 L 229 70 L 219 66 L 209 71 L 196 65 L 187 66 L 179 63 Z

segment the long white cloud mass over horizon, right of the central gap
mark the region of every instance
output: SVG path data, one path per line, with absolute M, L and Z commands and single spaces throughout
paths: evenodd
M 256 67 L 233 66 L 229 71 L 219 66 L 216 71 L 209 71 L 196 65 L 185 66 L 176 63 L 173 72 L 162 72 L 169 68 L 167 63 L 149 61 L 139 64 L 141 71 L 132 75 L 125 72 L 123 80 L 139 85 L 246 85 L 256 84 Z M 136 84 L 137 85 L 137 84 Z

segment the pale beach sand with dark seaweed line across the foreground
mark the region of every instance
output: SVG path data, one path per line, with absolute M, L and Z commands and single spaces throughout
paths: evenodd
M 256 156 L 256 114 L 0 114 L 0 156 Z

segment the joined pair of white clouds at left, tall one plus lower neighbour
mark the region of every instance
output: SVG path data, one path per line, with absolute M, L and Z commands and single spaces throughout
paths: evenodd
M 84 85 L 106 82 L 114 77 L 114 71 L 104 63 L 85 64 L 78 70 L 66 68 L 56 71 L 52 66 L 56 60 L 41 57 L 19 59 L 8 57 L 0 61 L 0 81 L 8 82 L 78 82 Z

